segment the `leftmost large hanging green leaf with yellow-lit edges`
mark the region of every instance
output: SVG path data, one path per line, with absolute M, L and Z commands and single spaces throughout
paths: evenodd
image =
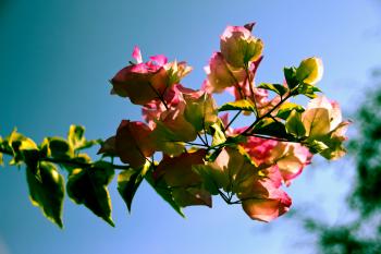
M 41 208 L 44 215 L 57 223 L 62 223 L 62 207 L 64 197 L 64 180 L 54 165 L 48 162 L 39 164 L 39 176 L 37 179 L 29 167 L 26 168 L 26 180 L 29 186 L 29 197 L 33 205 Z

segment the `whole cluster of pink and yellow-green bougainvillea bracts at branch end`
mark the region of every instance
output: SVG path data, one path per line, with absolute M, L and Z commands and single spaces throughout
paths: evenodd
M 263 43 L 253 27 L 225 28 L 200 89 L 181 83 L 192 71 L 186 62 L 164 56 L 144 62 L 137 47 L 135 62 L 111 80 L 112 94 L 142 106 L 145 122 L 123 120 L 99 153 L 119 157 L 179 213 L 190 205 L 211 207 L 212 195 L 220 195 L 242 204 L 250 218 L 270 221 L 288 210 L 292 199 L 282 185 L 290 185 L 314 154 L 327 159 L 345 154 L 348 122 L 336 102 L 317 95 L 321 60 L 307 58 L 285 68 L 282 84 L 257 85 Z M 218 107 L 213 94 L 223 92 L 234 100 Z M 299 95 L 311 98 L 306 108 L 291 101 Z M 235 126 L 239 117 L 251 124 Z M 138 184 L 128 184 L 130 208 Z

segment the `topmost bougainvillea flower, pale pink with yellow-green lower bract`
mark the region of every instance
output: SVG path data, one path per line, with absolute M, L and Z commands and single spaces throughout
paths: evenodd
M 244 26 L 228 26 L 220 40 L 221 53 L 233 68 L 244 68 L 258 60 L 263 43 Z

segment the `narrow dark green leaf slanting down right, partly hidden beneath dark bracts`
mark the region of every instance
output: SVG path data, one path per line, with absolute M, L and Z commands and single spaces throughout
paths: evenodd
M 171 207 L 183 218 L 185 215 L 183 214 L 182 208 L 174 201 L 171 189 L 165 184 L 164 181 L 156 181 L 153 180 L 152 172 L 149 170 L 145 179 L 147 182 L 153 188 L 153 190 L 168 203 Z

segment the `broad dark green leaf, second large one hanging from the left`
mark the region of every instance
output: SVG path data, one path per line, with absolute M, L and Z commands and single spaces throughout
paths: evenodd
M 95 215 L 114 227 L 111 218 L 111 199 L 107 185 L 114 170 L 106 161 L 98 161 L 90 169 L 75 169 L 69 176 L 66 189 L 76 204 L 84 204 Z

